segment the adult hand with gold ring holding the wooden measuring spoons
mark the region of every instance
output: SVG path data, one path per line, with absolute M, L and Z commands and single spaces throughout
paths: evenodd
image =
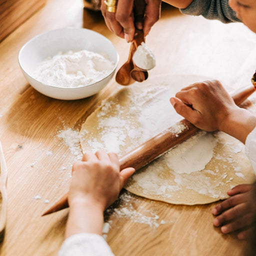
M 160 17 L 161 0 L 118 0 L 116 12 L 106 10 L 101 1 L 101 12 L 107 27 L 116 35 L 132 41 L 135 27 L 147 35 Z

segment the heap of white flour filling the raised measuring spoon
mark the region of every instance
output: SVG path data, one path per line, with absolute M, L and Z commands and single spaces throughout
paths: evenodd
M 133 63 L 144 70 L 149 70 L 155 66 L 155 57 L 149 47 L 142 42 L 132 56 Z

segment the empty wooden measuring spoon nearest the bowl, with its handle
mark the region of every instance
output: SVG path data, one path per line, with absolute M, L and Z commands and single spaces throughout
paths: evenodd
M 129 85 L 135 81 L 130 74 L 131 70 L 134 68 L 132 56 L 135 50 L 135 44 L 132 42 L 130 44 L 128 60 L 119 68 L 115 75 L 116 82 L 118 82 L 121 85 Z

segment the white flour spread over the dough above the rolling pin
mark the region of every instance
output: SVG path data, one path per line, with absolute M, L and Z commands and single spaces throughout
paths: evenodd
M 97 124 L 93 129 L 81 130 L 81 143 L 86 140 L 93 152 L 104 148 L 121 156 L 171 125 L 174 133 L 185 128 L 177 123 L 181 116 L 170 105 L 171 92 L 166 84 L 124 93 L 130 98 L 129 105 L 108 99 L 95 113 Z

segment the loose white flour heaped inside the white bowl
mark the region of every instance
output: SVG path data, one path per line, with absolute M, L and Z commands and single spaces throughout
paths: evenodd
M 70 50 L 44 59 L 34 78 L 56 87 L 81 87 L 103 79 L 113 68 L 114 63 L 99 53 Z

